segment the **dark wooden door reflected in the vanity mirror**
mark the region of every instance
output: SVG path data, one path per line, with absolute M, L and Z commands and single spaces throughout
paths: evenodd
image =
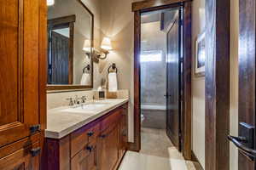
M 50 84 L 69 83 L 69 38 L 51 31 Z

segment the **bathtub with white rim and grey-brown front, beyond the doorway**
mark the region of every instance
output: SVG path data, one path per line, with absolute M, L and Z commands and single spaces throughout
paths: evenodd
M 141 105 L 142 127 L 166 129 L 166 105 Z

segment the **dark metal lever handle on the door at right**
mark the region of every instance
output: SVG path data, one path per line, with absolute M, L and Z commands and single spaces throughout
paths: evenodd
M 247 139 L 244 137 L 234 137 L 234 136 L 228 136 L 228 139 L 236 145 L 236 147 L 241 150 L 243 153 L 245 153 L 247 156 L 250 157 L 250 159 L 253 161 L 253 158 L 256 158 L 256 150 L 253 150 L 251 148 L 248 148 L 245 144 L 247 143 Z

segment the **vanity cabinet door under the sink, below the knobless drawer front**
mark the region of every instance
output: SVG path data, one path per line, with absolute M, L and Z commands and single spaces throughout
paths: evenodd
M 119 160 L 119 126 L 109 127 L 101 138 L 101 169 L 112 170 Z

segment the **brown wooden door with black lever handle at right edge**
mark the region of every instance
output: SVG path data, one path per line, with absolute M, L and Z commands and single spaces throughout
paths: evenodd
M 239 122 L 246 122 L 255 127 L 255 1 L 240 0 L 240 37 L 239 37 Z M 239 125 L 239 136 L 243 136 Z M 255 133 L 253 134 L 255 138 Z M 254 146 L 255 148 L 255 143 Z M 254 170 L 255 161 L 252 161 L 239 152 L 239 170 Z

